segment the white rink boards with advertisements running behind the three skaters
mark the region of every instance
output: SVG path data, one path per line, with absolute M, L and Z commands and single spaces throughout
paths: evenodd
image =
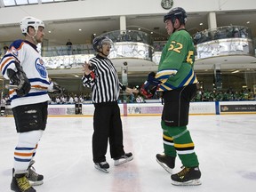
M 93 116 L 92 103 L 81 105 L 77 113 L 75 104 L 49 105 L 49 116 Z M 163 105 L 155 103 L 122 103 L 119 104 L 122 116 L 160 116 Z M 10 106 L 6 107 L 7 115 L 12 115 Z M 256 114 L 256 101 L 215 101 L 191 102 L 189 115 L 225 115 L 225 114 Z

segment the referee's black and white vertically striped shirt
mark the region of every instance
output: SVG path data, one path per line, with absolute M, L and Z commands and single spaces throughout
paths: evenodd
M 111 60 L 97 55 L 89 60 L 95 68 L 89 75 L 82 77 L 84 86 L 92 90 L 92 102 L 102 103 L 116 101 L 119 97 L 120 89 L 125 90 L 125 86 L 119 82 L 116 68 Z

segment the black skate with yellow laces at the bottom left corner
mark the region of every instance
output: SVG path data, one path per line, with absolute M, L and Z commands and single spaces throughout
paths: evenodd
M 14 169 L 12 169 L 14 172 Z M 15 192 L 36 192 L 26 177 L 26 173 L 12 174 L 11 190 Z

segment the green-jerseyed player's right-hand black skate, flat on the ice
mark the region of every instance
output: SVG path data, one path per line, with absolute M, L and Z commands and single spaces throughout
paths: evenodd
M 177 186 L 196 186 L 201 185 L 201 172 L 199 167 L 183 167 L 183 169 L 176 173 L 172 174 L 172 185 Z

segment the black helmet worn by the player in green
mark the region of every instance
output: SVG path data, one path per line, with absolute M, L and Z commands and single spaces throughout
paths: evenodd
M 178 19 L 180 20 L 180 24 L 185 24 L 187 21 L 187 13 L 185 10 L 181 7 L 173 8 L 170 12 L 168 12 L 166 15 L 164 15 L 164 22 L 166 20 L 172 20 L 172 23 L 174 23 L 174 20 Z

